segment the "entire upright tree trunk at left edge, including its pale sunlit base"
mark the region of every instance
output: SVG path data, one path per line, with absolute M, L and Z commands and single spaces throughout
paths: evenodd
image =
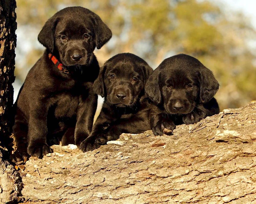
M 10 165 L 6 148 L 10 148 L 10 134 L 14 119 L 13 86 L 14 82 L 14 49 L 16 46 L 15 0 L 0 0 L 0 203 L 17 199 L 21 190 L 19 173 Z M 4 150 L 5 149 L 5 150 Z

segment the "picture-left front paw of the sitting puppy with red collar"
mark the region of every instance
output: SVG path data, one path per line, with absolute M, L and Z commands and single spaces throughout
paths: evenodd
M 27 152 L 31 157 L 42 159 L 44 155 L 52 153 L 53 150 L 45 143 L 34 143 L 28 145 Z

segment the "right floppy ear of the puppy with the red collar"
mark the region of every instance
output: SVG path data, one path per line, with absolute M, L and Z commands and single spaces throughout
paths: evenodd
M 97 15 L 93 15 L 94 20 L 94 31 L 96 38 L 96 47 L 100 49 L 103 45 L 105 45 L 110 38 L 112 37 L 112 32 L 109 27 L 103 23 L 101 18 Z

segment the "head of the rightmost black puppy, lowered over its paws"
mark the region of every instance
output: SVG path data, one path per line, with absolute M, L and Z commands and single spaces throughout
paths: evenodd
M 218 81 L 196 58 L 179 54 L 165 59 L 147 81 L 146 97 L 170 114 L 187 114 L 216 94 Z

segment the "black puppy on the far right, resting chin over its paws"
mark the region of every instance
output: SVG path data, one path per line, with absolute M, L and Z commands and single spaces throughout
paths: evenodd
M 164 128 L 197 123 L 219 113 L 213 96 L 219 83 L 199 60 L 185 54 L 165 59 L 148 79 L 145 92 L 157 106 L 152 109 L 154 135 L 163 135 Z

